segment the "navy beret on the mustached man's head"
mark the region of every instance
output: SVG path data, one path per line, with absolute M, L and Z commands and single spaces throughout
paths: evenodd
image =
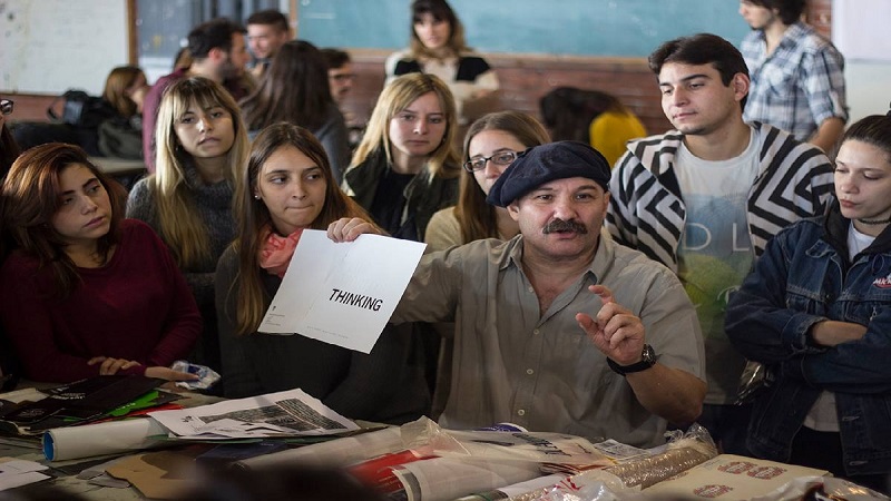
M 557 141 L 523 151 L 495 181 L 486 198 L 507 207 L 545 183 L 569 177 L 586 177 L 609 190 L 609 163 L 600 151 L 579 141 Z

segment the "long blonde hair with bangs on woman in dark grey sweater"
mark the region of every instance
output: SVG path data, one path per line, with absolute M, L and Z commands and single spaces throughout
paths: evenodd
M 164 92 L 155 128 L 157 169 L 148 184 L 158 208 L 160 236 L 170 247 L 177 265 L 189 267 L 212 257 L 207 227 L 195 208 L 186 183 L 186 164 L 190 155 L 179 146 L 175 125 L 195 104 L 202 108 L 222 106 L 232 115 L 235 140 L 227 154 L 226 183 L 237 186 L 238 173 L 247 160 L 249 143 L 238 105 L 219 84 L 203 77 L 174 82 Z M 233 190 L 234 191 L 234 190 Z

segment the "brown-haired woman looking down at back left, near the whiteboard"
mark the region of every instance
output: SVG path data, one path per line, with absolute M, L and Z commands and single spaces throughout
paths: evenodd
M 105 99 L 115 116 L 99 124 L 99 151 L 107 157 L 143 159 L 143 100 L 149 86 L 136 66 L 119 66 L 105 80 Z

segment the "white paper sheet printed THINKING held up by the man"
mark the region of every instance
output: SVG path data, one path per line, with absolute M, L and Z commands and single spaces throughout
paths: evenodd
M 380 235 L 334 243 L 325 232 L 304 230 L 260 332 L 370 353 L 424 247 Z

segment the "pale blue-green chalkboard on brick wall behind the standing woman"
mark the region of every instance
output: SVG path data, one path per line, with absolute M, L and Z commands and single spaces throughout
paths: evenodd
M 737 45 L 748 26 L 734 0 L 450 0 L 481 52 L 645 57 L 703 31 Z M 408 45 L 411 0 L 301 0 L 298 37 L 320 47 Z

